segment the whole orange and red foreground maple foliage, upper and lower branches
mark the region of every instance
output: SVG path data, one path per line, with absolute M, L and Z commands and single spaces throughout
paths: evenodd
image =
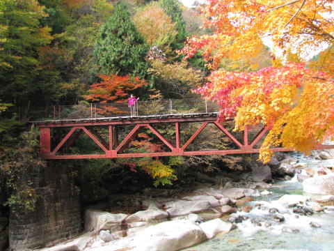
M 201 51 L 214 70 L 196 92 L 221 105 L 219 119 L 234 117 L 235 130 L 257 123 L 271 128 L 260 149 L 264 162 L 273 155 L 272 146 L 308 153 L 334 138 L 331 49 L 324 54 L 326 58 L 320 56 L 320 67 L 319 63 L 310 64 L 315 70 L 306 68 L 305 63 L 286 63 L 237 73 L 221 70 L 221 62 L 246 59 L 251 64 L 267 36 L 273 42 L 273 52 L 279 49 L 283 57 L 293 52 L 303 59 L 312 50 L 331 48 L 332 7 L 329 0 L 208 0 L 201 11 L 212 34 L 189 38 L 182 49 L 187 57 Z

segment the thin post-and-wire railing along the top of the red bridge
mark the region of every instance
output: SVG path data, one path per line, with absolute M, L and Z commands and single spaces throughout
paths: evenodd
M 133 116 L 149 116 L 162 114 L 191 114 L 218 112 L 216 102 L 200 98 L 168 99 L 168 100 L 138 100 L 135 105 L 136 114 Z M 88 103 L 78 105 L 54 105 L 40 107 L 29 112 L 30 119 L 89 119 L 109 116 L 132 116 L 127 102 Z

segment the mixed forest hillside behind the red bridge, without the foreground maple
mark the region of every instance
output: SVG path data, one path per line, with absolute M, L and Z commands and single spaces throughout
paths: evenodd
M 45 107 L 126 102 L 130 93 L 158 104 L 161 99 L 197 97 L 191 89 L 202 85 L 211 69 L 200 52 L 185 60 L 180 50 L 186 38 L 212 33 L 199 29 L 203 22 L 198 10 L 177 0 L 1 1 L 1 203 L 33 208 L 33 184 L 22 175 L 31 168 L 57 165 L 38 158 L 38 133 L 27 123 L 45 116 Z M 261 67 L 271 64 L 265 47 L 255 60 Z M 254 69 L 243 60 L 223 63 L 233 70 Z M 185 129 L 184 139 L 196 126 Z M 169 129 L 159 130 L 168 133 Z M 169 133 L 173 137 L 171 129 Z M 221 144 L 223 137 L 210 139 L 209 134 L 203 132 L 196 144 L 228 147 L 227 142 Z M 78 144 L 94 149 L 85 137 Z M 141 133 L 136 143 L 138 152 L 160 148 L 149 132 Z M 240 169 L 239 164 L 239 158 L 218 156 L 67 162 L 74 167 L 84 201 L 103 199 L 132 186 L 135 191 L 136 184 L 171 184 L 191 168 L 195 174 L 197 169 L 213 171 L 219 166 Z M 126 181 L 121 178 L 111 190 L 109 183 L 118 176 L 127 177 Z

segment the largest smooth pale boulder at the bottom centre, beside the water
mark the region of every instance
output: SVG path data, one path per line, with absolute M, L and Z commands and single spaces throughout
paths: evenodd
M 111 241 L 99 248 L 86 248 L 90 251 L 174 251 L 205 241 L 204 231 L 191 220 L 173 220 L 150 226 L 138 234 Z

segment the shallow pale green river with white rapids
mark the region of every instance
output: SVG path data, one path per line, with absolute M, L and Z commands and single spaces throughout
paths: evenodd
M 296 154 L 293 157 L 299 158 L 300 162 L 307 162 L 308 168 L 334 167 L 334 160 L 315 160 Z M 255 201 L 248 202 L 254 206 L 252 211 L 238 212 L 239 215 L 247 215 L 249 219 L 237 223 L 237 229 L 228 234 L 219 234 L 184 251 L 334 250 L 334 206 L 327 206 L 324 212 L 313 215 L 296 215 L 292 213 L 292 208 L 278 204 L 276 200 L 283 195 L 304 195 L 312 199 L 319 197 L 304 193 L 303 185 L 296 176 L 291 181 L 273 183 L 268 190 L 272 192 L 270 195 L 257 197 Z M 259 204 L 261 206 L 255 206 Z M 273 221 L 268 208 L 277 208 L 284 216 L 284 222 Z M 260 222 L 261 226 L 254 223 L 254 220 Z M 265 227 L 265 222 L 270 222 L 271 226 Z M 310 222 L 316 222 L 321 227 L 311 227 Z M 295 229 L 295 232 L 285 232 L 284 229 Z

